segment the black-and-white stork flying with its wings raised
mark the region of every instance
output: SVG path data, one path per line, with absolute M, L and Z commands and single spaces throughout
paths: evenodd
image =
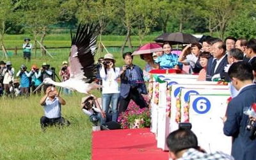
M 76 35 L 71 35 L 71 50 L 69 55 L 70 78 L 64 82 L 55 82 L 45 78 L 42 84 L 53 84 L 81 93 L 90 94 L 90 90 L 99 88 L 95 83 L 97 74 L 94 64 L 94 54 L 97 49 L 97 26 L 86 24 L 81 27 L 79 24 Z

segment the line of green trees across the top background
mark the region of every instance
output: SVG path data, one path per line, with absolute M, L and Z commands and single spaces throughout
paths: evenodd
M 256 35 L 256 1 L 249 0 L 1 0 L 0 45 L 4 35 L 29 33 L 44 44 L 55 28 L 96 22 L 101 35 L 131 35 L 140 43 L 153 32 L 184 32 L 252 38 Z

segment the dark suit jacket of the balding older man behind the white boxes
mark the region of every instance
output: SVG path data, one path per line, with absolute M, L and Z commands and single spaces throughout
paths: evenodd
M 208 61 L 210 60 L 210 58 L 208 59 Z M 225 57 L 221 60 L 220 64 L 218 65 L 218 67 L 216 68 L 215 72 L 214 72 L 214 68 L 216 66 L 216 64 L 214 64 L 214 60 L 213 58 L 211 58 L 210 60 L 210 64 L 208 65 L 207 62 L 207 78 L 206 81 L 211 81 L 211 77 L 214 76 L 214 74 L 220 74 L 221 79 L 225 79 L 225 81 L 230 81 L 230 78 L 227 76 L 227 74 L 225 73 L 224 67 L 228 64 L 228 58 L 227 58 L 227 54 L 225 55 Z

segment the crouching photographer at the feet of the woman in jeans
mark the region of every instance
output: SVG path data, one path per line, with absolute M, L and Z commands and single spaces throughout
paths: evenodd
M 81 100 L 81 107 L 83 113 L 90 117 L 90 122 L 95 126 L 99 125 L 99 122 L 100 124 L 103 124 L 102 119 L 106 118 L 106 113 L 100 108 L 96 97 L 93 95 L 83 97 Z

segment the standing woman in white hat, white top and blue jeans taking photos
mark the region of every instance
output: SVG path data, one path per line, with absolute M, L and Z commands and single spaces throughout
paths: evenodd
M 108 114 L 109 105 L 111 104 L 112 121 L 117 121 L 118 116 L 118 102 L 120 97 L 120 90 L 117 79 L 120 75 L 120 68 L 115 67 L 115 59 L 113 54 L 106 54 L 101 63 L 100 77 L 102 78 L 102 109 L 104 113 Z M 102 119 L 106 122 L 106 118 Z

